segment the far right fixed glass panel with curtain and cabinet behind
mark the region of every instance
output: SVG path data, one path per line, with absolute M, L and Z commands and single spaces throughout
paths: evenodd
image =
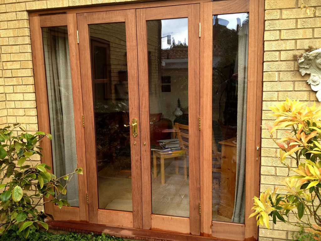
M 212 218 L 244 223 L 248 13 L 213 16 Z

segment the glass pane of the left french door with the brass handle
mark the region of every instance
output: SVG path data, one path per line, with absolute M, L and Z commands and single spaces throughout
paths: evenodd
M 132 211 L 126 27 L 89 25 L 100 209 Z

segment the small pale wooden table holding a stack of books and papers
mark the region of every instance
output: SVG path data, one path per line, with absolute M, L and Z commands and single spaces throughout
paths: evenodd
M 153 151 L 154 178 L 157 177 L 156 157 L 159 157 L 160 158 L 160 180 L 162 185 L 165 184 L 164 160 L 167 158 L 174 157 L 176 161 L 175 173 L 178 174 L 178 156 L 185 156 L 185 151 L 184 150 L 170 151 L 170 152 Z M 184 180 L 187 180 L 186 157 L 184 158 Z

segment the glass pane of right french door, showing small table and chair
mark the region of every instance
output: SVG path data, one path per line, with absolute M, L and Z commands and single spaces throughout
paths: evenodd
M 152 213 L 189 217 L 187 18 L 147 21 Z

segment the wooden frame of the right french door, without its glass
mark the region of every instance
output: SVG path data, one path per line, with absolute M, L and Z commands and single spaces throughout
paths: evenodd
M 199 4 L 164 6 L 137 9 L 137 39 L 147 40 L 147 20 L 173 19 L 188 17 L 188 52 L 190 56 L 199 53 Z M 150 113 L 148 85 L 147 41 L 138 46 L 139 94 L 142 142 L 142 183 L 143 185 L 143 228 L 171 230 L 181 233 L 200 235 L 200 166 L 199 166 L 199 58 L 188 59 L 188 111 L 189 111 L 189 218 L 152 214 L 151 197 L 151 152 L 150 152 Z M 195 91 L 196 90 L 196 91 Z M 147 128 L 148 127 L 148 128 Z M 145 130 L 145 131 L 143 131 Z M 194 140 L 194 141 L 193 141 Z M 195 141 L 197 140 L 197 141 Z M 191 162 L 191 160 L 194 160 Z M 196 191 L 195 191 L 196 190 Z

